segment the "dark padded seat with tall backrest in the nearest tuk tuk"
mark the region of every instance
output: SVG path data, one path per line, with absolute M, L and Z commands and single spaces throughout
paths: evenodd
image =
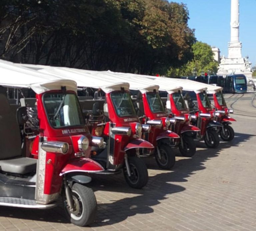
M 18 174 L 36 171 L 37 160 L 21 156 L 21 136 L 16 114 L 2 94 L 0 105 L 0 169 Z

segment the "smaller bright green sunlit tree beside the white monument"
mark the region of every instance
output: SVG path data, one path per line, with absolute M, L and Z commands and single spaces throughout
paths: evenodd
M 204 72 L 216 74 L 218 62 L 213 58 L 211 46 L 206 43 L 196 42 L 192 45 L 193 59 L 180 68 L 170 68 L 168 76 L 201 75 Z

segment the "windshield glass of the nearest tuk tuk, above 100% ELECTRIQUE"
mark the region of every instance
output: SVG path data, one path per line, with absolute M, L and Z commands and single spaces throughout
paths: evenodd
M 75 94 L 45 93 L 43 104 L 48 120 L 54 128 L 85 124 Z

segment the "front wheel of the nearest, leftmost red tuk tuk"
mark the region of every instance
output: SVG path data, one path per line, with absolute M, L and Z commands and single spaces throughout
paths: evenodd
M 64 197 L 64 210 L 68 220 L 77 226 L 86 226 L 94 222 L 97 212 L 97 201 L 94 192 L 82 184 L 75 183 L 72 188 L 75 211 L 70 213 Z

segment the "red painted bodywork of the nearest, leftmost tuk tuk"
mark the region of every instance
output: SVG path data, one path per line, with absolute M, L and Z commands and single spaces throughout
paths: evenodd
M 60 91 L 50 91 L 47 93 L 61 93 Z M 67 92 L 75 94 L 74 92 Z M 39 135 L 34 140 L 31 154 L 34 158 L 38 158 L 39 168 L 42 167 L 44 170 L 44 185 L 43 194 L 54 194 L 61 190 L 63 182 L 63 174 L 67 172 L 94 172 L 103 171 L 104 169 L 97 162 L 90 160 L 90 150 L 85 151 L 84 156 L 87 158 L 75 157 L 75 153 L 79 152 L 77 150 L 77 144 L 73 143 L 75 137 L 86 136 L 89 141 L 91 141 L 91 135 L 88 131 L 87 126 L 75 126 L 75 127 L 63 127 L 63 128 L 53 128 L 47 118 L 45 108 L 43 106 L 42 97 L 43 94 L 36 95 L 37 101 L 37 111 L 39 119 Z M 69 149 L 66 154 L 56 153 L 56 152 L 45 152 L 40 148 L 41 142 L 44 141 L 61 141 L 69 144 Z M 40 150 L 39 150 L 40 149 Z M 40 154 L 42 151 L 43 154 Z M 42 159 L 44 156 L 44 159 Z

